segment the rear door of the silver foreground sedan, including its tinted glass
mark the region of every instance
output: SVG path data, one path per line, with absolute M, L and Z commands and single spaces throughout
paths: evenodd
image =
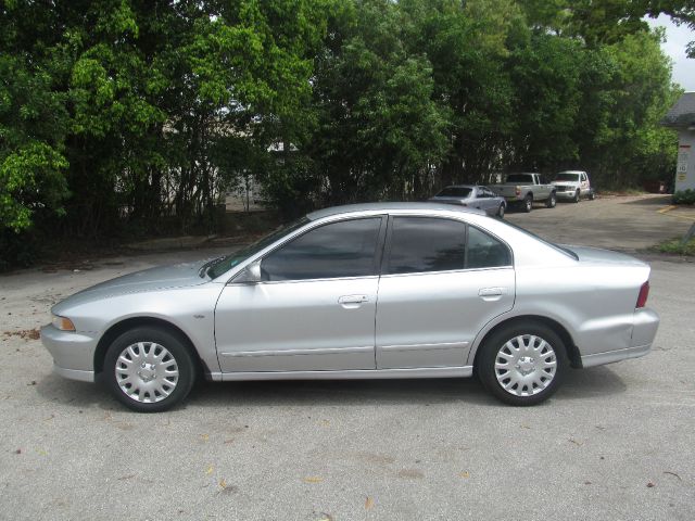
M 377 368 L 460 367 L 485 323 L 511 309 L 509 247 L 463 221 L 389 221 L 377 304 Z

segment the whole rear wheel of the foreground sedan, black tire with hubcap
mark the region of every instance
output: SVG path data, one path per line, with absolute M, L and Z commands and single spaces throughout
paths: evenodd
M 514 342 L 516 342 L 518 338 L 522 338 L 523 341 L 531 342 L 531 335 L 535 336 L 536 339 L 542 339 L 543 341 L 545 341 L 546 345 L 543 346 L 543 344 L 540 344 L 536 341 L 536 344 L 539 344 L 540 346 L 539 353 L 541 354 L 538 355 L 535 359 L 533 359 L 531 356 L 526 357 L 531 358 L 535 361 L 527 361 L 526 359 L 517 361 L 519 361 L 519 364 L 529 364 L 529 370 L 531 371 L 527 374 L 523 374 L 521 378 L 526 378 L 527 376 L 535 376 L 536 378 L 534 381 L 532 381 L 531 387 L 529 387 L 529 384 L 527 383 L 523 383 L 522 385 L 516 383 L 509 391 L 507 391 L 503 387 L 503 383 L 501 382 L 510 384 L 514 383 L 514 379 L 505 379 L 507 373 L 503 372 L 505 371 L 504 368 L 500 368 L 500 374 L 497 374 L 497 368 L 495 367 L 495 364 L 497 363 L 497 359 L 500 359 L 501 361 L 505 359 L 505 354 L 502 351 L 507 350 L 506 346 L 508 342 L 511 342 L 514 345 Z M 549 354 L 548 351 L 545 351 L 546 347 L 549 347 L 553 354 Z M 480 381 L 482 382 L 484 387 L 497 399 L 509 405 L 529 406 L 538 405 L 542 402 L 545 402 L 560 386 L 569 367 L 567 350 L 559 335 L 547 326 L 535 321 L 516 321 L 509 323 L 508 326 L 504 326 L 497 331 L 493 332 L 490 338 L 485 339 L 483 345 L 481 345 L 480 348 L 482 351 L 478 355 L 476 361 Z M 509 350 L 509 352 L 511 353 L 510 356 L 514 356 L 514 352 L 511 352 L 511 350 Z M 531 354 L 536 355 L 535 352 Z M 541 358 L 541 356 L 543 358 Z M 552 360 L 552 358 L 554 358 L 555 360 L 555 372 L 552 376 L 547 372 L 548 370 L 551 370 L 549 368 L 539 368 L 534 365 L 540 364 L 542 360 Z M 515 371 L 515 374 L 520 374 L 520 371 L 517 371 L 518 368 L 518 365 L 515 366 L 515 368 L 510 367 L 509 376 L 511 377 L 511 370 Z M 544 387 L 541 387 L 540 385 L 536 385 L 534 383 L 535 381 L 540 382 L 540 380 L 542 380 L 543 378 L 545 378 L 546 382 L 549 378 L 548 383 L 541 382 L 545 385 Z M 521 386 L 519 387 L 519 385 Z M 538 391 L 536 387 L 539 389 Z M 530 394 L 523 395 L 525 390 Z

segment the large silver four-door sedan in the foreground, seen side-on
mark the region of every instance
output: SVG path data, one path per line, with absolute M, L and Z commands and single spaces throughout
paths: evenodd
M 649 267 L 548 243 L 480 211 L 314 212 L 228 256 L 153 268 L 56 304 L 55 371 L 164 410 L 210 380 L 469 377 L 514 405 L 570 367 L 648 353 Z

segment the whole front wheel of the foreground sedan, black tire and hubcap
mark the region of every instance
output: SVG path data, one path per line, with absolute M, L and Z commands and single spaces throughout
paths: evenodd
M 162 357 L 161 361 L 148 364 L 147 368 L 142 365 L 136 369 L 135 361 L 141 359 L 134 360 L 131 370 L 139 371 L 142 368 L 147 376 L 143 377 L 140 372 L 137 373 L 138 376 L 134 374 L 135 382 L 132 383 L 128 381 L 129 377 L 125 377 L 123 373 L 121 377 L 116 377 L 117 365 L 122 372 L 127 371 L 130 367 L 123 359 L 119 360 L 121 355 L 129 347 L 138 357 L 147 357 L 148 361 L 154 361 L 154 358 L 150 357 Z M 166 354 L 162 356 L 163 353 Z M 125 357 L 135 358 L 130 352 L 126 353 Z M 102 378 L 111 394 L 129 409 L 138 412 L 161 412 L 174 407 L 188 396 L 195 382 L 195 367 L 185 341 L 179 339 L 177 334 L 162 328 L 139 327 L 121 334 L 109 346 L 104 357 Z M 170 372 L 174 369 L 178 370 L 175 381 L 174 377 L 164 373 L 165 370 Z M 149 380 L 146 380 L 148 378 Z M 159 381 L 157 378 L 160 378 Z M 121 386 L 123 382 L 126 382 L 124 386 L 130 385 L 128 390 L 131 390 L 132 394 L 141 390 L 142 401 L 127 394 Z M 167 392 L 170 394 L 166 394 Z

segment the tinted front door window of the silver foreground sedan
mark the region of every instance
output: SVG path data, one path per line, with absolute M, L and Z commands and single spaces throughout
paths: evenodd
M 343 220 L 315 228 L 267 255 L 264 280 L 362 277 L 375 274 L 381 218 Z

